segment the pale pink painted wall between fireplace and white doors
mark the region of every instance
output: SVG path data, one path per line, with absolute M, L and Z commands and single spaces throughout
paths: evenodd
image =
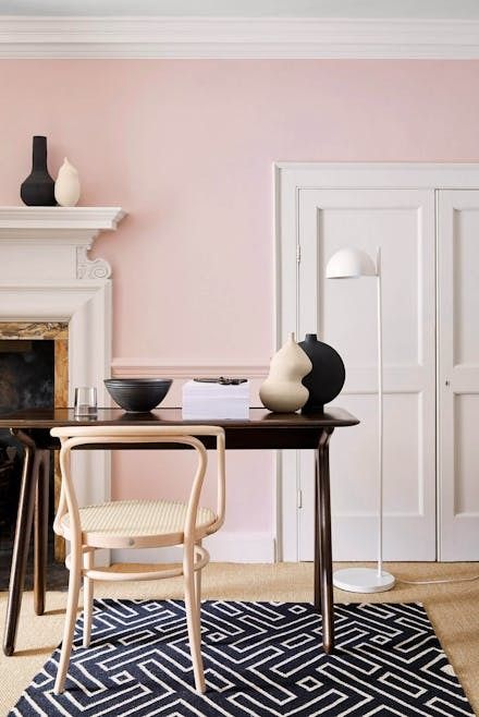
M 2 204 L 20 203 L 30 136 L 46 134 L 52 174 L 63 155 L 77 166 L 82 204 L 130 214 L 96 246 L 113 267 L 115 357 L 268 362 L 274 160 L 479 161 L 479 61 L 15 60 L 0 87 Z M 271 457 L 231 463 L 230 530 L 271 532 Z

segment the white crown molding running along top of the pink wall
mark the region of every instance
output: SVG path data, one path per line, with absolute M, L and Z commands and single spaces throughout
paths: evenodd
M 479 20 L 2 16 L 0 58 L 479 58 Z

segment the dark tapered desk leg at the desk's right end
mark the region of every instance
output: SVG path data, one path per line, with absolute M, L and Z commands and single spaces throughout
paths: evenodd
M 333 566 L 331 555 L 331 498 L 329 440 L 333 429 L 324 429 L 316 455 L 316 483 L 319 497 L 319 554 L 322 611 L 322 642 L 326 653 L 334 648 Z

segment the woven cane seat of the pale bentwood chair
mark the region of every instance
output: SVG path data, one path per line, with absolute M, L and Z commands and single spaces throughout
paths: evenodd
M 82 543 L 91 547 L 156 547 L 181 545 L 187 505 L 169 500 L 116 500 L 79 509 Z M 197 539 L 208 535 L 217 514 L 199 507 L 196 514 Z M 70 539 L 70 515 L 61 520 Z

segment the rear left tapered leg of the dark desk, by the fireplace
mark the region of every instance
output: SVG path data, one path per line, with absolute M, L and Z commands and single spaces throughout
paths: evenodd
M 50 451 L 39 450 L 34 535 L 34 606 L 44 615 L 48 559 L 48 493 L 50 489 Z

